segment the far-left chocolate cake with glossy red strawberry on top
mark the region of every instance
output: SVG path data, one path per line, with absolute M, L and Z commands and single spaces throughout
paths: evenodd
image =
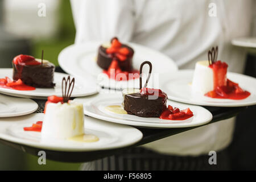
M 54 71 L 55 66 L 52 63 L 32 56 L 19 55 L 13 60 L 13 80 L 20 78 L 24 84 L 35 88 L 53 88 Z

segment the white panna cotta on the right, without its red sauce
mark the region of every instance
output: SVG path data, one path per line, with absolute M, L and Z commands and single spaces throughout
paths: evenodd
M 213 70 L 208 61 L 198 61 L 193 75 L 192 92 L 205 94 L 213 90 L 213 85 Z

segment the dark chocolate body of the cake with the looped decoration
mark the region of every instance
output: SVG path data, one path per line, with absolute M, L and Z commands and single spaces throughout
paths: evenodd
M 163 92 L 166 96 L 166 93 Z M 158 97 L 156 100 L 149 100 L 148 95 L 141 93 L 126 94 L 123 107 L 128 114 L 139 117 L 160 117 L 166 109 L 166 97 Z

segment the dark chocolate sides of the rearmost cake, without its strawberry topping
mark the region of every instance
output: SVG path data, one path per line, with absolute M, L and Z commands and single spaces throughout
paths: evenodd
M 132 71 L 133 69 L 133 55 L 134 55 L 134 50 L 125 45 L 122 44 L 122 47 L 126 47 L 129 49 L 129 54 L 127 55 L 127 59 L 124 61 L 118 60 L 118 65 L 122 71 Z M 106 53 L 106 48 L 103 46 L 100 46 L 98 48 L 98 56 L 97 56 L 97 64 L 99 67 L 102 69 L 108 69 L 110 64 L 112 63 L 113 56 L 111 54 Z

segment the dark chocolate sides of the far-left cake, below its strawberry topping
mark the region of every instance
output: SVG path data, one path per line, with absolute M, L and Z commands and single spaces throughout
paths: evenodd
M 55 66 L 52 63 L 39 65 L 20 65 L 13 63 L 13 80 L 23 81 L 24 84 L 35 88 L 53 88 Z

